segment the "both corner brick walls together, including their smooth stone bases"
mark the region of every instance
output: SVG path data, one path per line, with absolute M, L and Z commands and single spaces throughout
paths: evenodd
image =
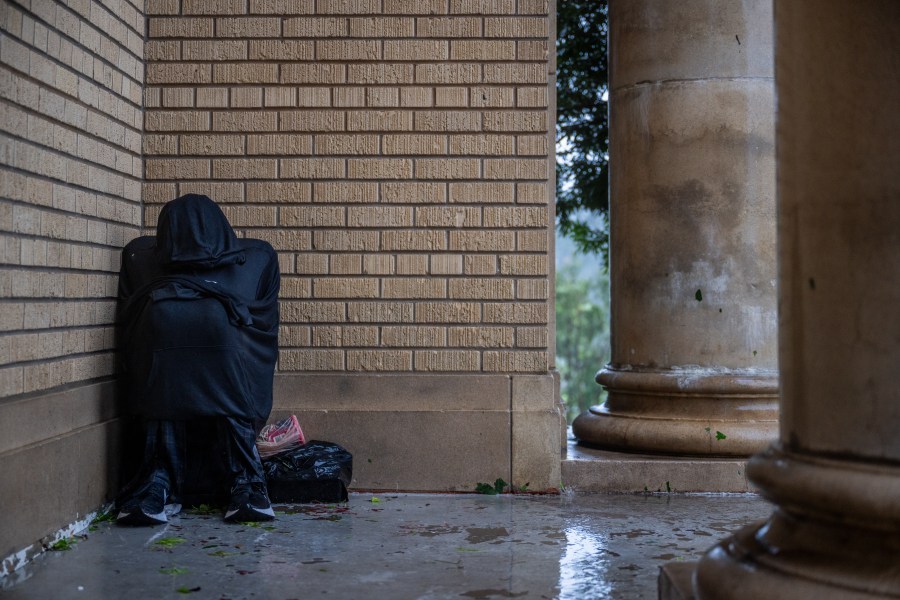
M 557 485 L 554 11 L 0 2 L 0 558 L 117 489 L 119 252 L 192 191 L 278 250 L 273 418 L 354 485 Z

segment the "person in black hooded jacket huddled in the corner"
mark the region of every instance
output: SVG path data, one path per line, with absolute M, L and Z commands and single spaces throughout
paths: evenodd
M 156 236 L 125 246 L 119 276 L 126 402 L 144 424 L 143 464 L 117 501 L 118 521 L 177 512 L 185 423 L 217 418 L 232 478 L 227 521 L 273 518 L 256 436 L 272 409 L 278 356 L 278 259 L 238 239 L 210 198 L 168 202 Z

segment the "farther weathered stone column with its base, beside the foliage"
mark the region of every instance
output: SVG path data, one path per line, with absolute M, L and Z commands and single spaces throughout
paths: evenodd
M 575 435 L 747 456 L 777 432 L 771 1 L 609 6 L 609 398 Z

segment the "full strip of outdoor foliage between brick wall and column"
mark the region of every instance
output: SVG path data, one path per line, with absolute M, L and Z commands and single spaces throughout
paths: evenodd
M 607 1 L 558 0 L 556 364 L 571 423 L 609 362 Z

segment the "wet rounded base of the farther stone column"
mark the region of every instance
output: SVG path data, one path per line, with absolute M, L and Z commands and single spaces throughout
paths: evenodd
M 778 437 L 778 376 L 710 369 L 597 375 L 609 396 L 572 424 L 582 442 L 665 454 L 750 456 Z

